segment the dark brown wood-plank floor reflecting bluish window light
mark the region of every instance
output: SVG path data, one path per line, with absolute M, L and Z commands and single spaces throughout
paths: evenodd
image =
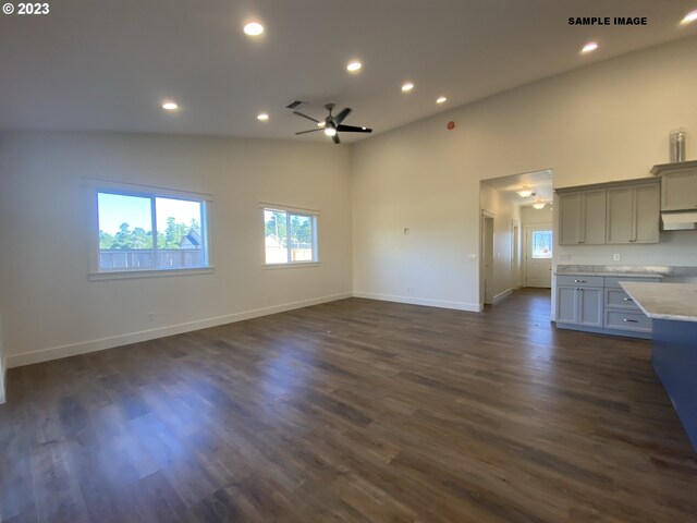
M 344 300 L 11 369 L 0 520 L 695 522 L 650 343 Z

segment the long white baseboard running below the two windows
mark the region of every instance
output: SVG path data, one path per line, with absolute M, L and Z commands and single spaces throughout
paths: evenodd
M 313 297 L 309 300 L 301 300 L 298 302 L 284 303 L 272 307 L 256 308 L 254 311 L 245 311 L 234 313 L 227 316 L 218 316 L 216 318 L 199 319 L 185 324 L 171 325 L 151 330 L 142 330 L 139 332 L 131 332 L 127 335 L 111 336 L 97 340 L 71 343 L 68 345 L 51 346 L 40 349 L 38 351 L 25 352 L 22 354 L 8 355 L 8 368 L 21 367 L 23 365 L 32 365 L 34 363 L 48 362 L 50 360 L 60 360 L 61 357 L 76 356 L 88 352 L 103 351 L 105 349 L 113 349 L 114 346 L 138 343 L 140 341 L 154 340 L 156 338 L 164 338 L 166 336 L 181 335 L 193 330 L 207 329 L 219 325 L 233 324 L 245 319 L 258 318 L 269 314 L 283 313 L 294 308 L 309 307 L 310 305 L 319 305 L 320 303 L 334 302 L 352 297 L 351 292 L 342 292 L 340 294 L 331 294 L 329 296 Z

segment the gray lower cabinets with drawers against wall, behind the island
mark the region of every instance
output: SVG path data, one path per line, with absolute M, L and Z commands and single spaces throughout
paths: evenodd
M 636 338 L 651 337 L 651 319 L 620 287 L 620 281 L 660 281 L 586 275 L 557 276 L 557 326 Z

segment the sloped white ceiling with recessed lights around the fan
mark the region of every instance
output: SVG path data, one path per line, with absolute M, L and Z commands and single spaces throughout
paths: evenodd
M 14 2 L 14 0 L 11 0 Z M 16 2 L 15 2 L 16 3 Z M 697 0 L 49 0 L 0 15 L 0 129 L 296 137 L 322 106 L 376 133 L 595 61 L 697 35 Z M 647 26 L 571 26 L 646 16 Z M 266 32 L 249 38 L 248 20 Z M 600 48 L 580 54 L 596 40 Z M 345 70 L 359 59 L 357 74 Z M 400 90 L 405 81 L 415 88 Z M 438 96 L 448 101 L 437 105 Z M 180 110 L 162 111 L 164 99 Z M 257 113 L 268 112 L 259 122 Z M 366 135 L 342 135 L 344 142 Z

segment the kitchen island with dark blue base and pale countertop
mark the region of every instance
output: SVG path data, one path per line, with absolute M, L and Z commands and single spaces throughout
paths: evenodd
M 697 450 L 697 284 L 620 284 L 653 320 L 653 368 Z

